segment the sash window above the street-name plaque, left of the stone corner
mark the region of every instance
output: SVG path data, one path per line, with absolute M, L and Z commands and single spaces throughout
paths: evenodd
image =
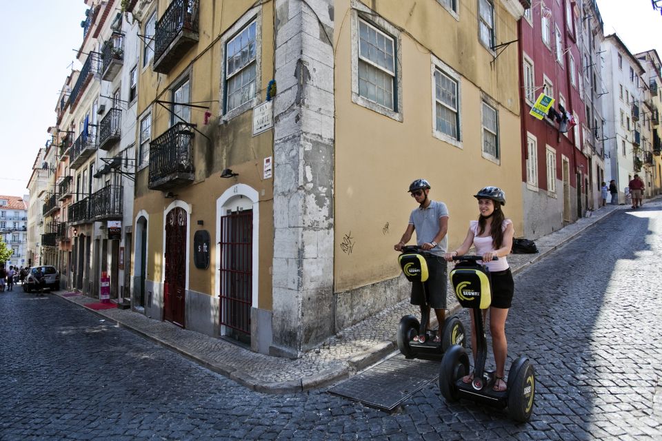
M 225 112 L 251 101 L 256 90 L 257 21 L 252 21 L 225 45 Z

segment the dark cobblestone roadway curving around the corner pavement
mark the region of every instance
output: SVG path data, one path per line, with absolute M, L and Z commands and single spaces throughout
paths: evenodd
M 537 380 L 526 424 L 448 404 L 437 384 L 393 414 L 323 388 L 253 391 L 112 318 L 14 291 L 0 294 L 0 440 L 662 439 L 661 233 L 662 203 L 616 209 L 539 262 L 516 264 L 525 269 L 515 277 L 509 358 L 527 355 Z

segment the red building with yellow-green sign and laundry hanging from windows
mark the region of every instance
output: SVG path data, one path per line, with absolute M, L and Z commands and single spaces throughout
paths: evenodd
M 528 238 L 583 216 L 594 180 L 591 150 L 583 148 L 581 139 L 590 127 L 582 98 L 586 80 L 579 48 L 586 37 L 581 11 L 574 0 L 535 0 L 519 21 L 524 232 Z M 541 93 L 551 96 L 554 103 L 548 117 L 539 120 L 529 110 Z

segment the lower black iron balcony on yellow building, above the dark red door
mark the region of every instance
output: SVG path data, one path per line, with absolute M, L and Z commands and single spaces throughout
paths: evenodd
M 148 187 L 168 190 L 193 182 L 193 130 L 188 123 L 177 123 L 150 143 Z

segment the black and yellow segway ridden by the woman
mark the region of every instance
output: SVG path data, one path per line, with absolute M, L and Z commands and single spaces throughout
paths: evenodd
M 470 373 L 467 350 L 460 345 L 450 347 L 441 360 L 439 391 L 449 402 L 466 398 L 502 409 L 508 407 L 513 420 L 528 421 L 535 396 L 535 372 L 528 358 L 520 356 L 512 362 L 505 391 L 492 389 L 494 371 L 485 371 L 488 345 L 481 309 L 490 307 L 492 302 L 490 271 L 477 263 L 481 256 L 457 256 L 453 259 L 459 260 L 450 271 L 455 296 L 462 307 L 472 308 L 476 323 L 477 347 L 473 348 L 476 351 L 476 364 L 471 384 L 465 384 L 462 377 Z

